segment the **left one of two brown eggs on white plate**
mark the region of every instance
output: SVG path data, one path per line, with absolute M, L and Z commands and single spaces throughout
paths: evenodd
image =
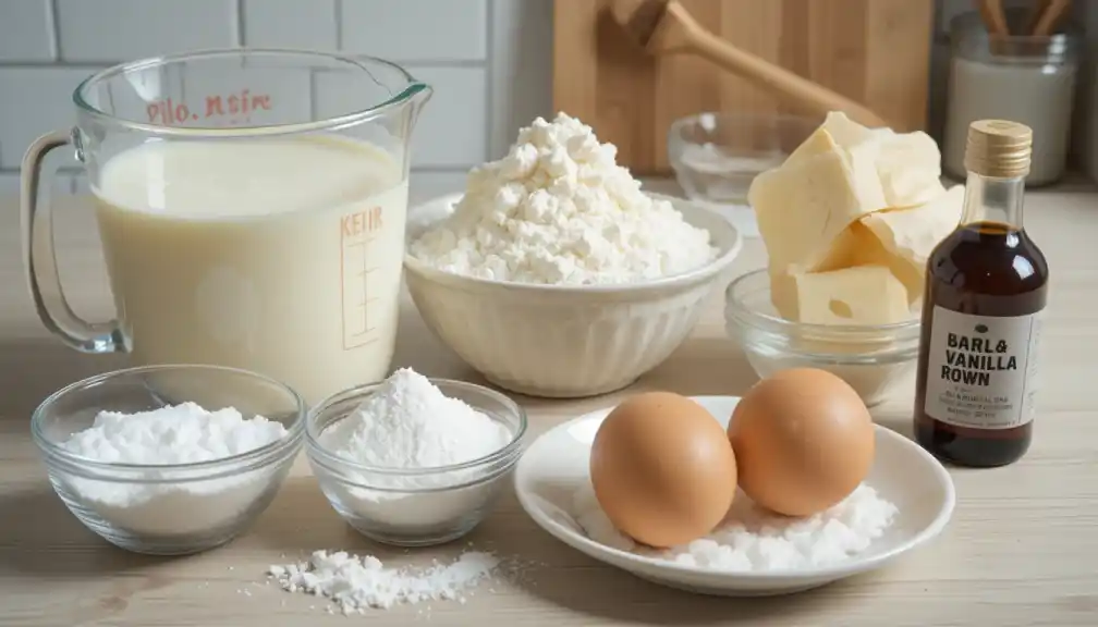
M 638 394 L 603 421 L 591 447 L 591 482 L 606 516 L 652 547 L 695 540 L 736 495 L 736 458 L 720 423 L 670 392 Z

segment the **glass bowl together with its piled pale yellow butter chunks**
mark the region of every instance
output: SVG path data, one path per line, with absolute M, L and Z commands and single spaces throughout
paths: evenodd
M 914 370 L 927 260 L 964 193 L 926 133 L 829 113 L 748 192 L 768 267 L 728 287 L 726 318 L 754 370 L 820 368 L 884 401 Z

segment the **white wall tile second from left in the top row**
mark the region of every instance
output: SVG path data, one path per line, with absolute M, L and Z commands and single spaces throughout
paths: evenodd
M 235 46 L 236 0 L 56 0 L 64 60 L 115 63 Z

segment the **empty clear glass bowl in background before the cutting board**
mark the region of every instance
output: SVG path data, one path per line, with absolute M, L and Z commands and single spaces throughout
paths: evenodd
M 726 212 L 746 236 L 758 237 L 748 189 L 775 168 L 821 120 L 773 113 L 698 113 L 668 132 L 668 159 L 691 200 Z M 710 206 L 712 208 L 712 206 Z

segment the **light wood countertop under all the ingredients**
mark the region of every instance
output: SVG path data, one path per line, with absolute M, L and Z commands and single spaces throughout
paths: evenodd
M 537 528 L 507 494 L 470 537 L 533 562 L 518 580 L 484 585 L 464 605 L 436 602 L 344 618 L 320 598 L 264 584 L 270 563 L 320 548 L 393 564 L 446 559 L 464 542 L 411 552 L 372 546 L 329 510 L 299 462 L 247 535 L 178 559 L 133 556 L 99 540 L 46 482 L 27 419 L 54 390 L 120 367 L 77 355 L 35 318 L 19 257 L 15 203 L 0 199 L 0 625 L 272 627 L 281 625 L 750 625 L 752 627 L 1072 627 L 1098 625 L 1098 195 L 1030 194 L 1027 224 L 1052 268 L 1037 438 L 1021 462 L 955 470 L 957 507 L 944 535 L 884 571 L 783 598 L 728 600 L 665 590 L 595 562 Z M 63 280 L 76 309 L 110 314 L 90 212 L 57 212 Z M 749 242 L 738 261 L 760 265 Z M 429 336 L 405 301 L 396 362 L 428 374 L 481 379 Z M 724 333 L 715 294 L 693 337 L 636 389 L 738 394 L 755 380 Z M 874 411 L 908 433 L 911 384 Z M 531 436 L 624 393 L 583 401 L 519 399 Z M 249 594 L 245 594 L 247 591 Z M 428 609 L 429 606 L 429 609 Z M 423 623 L 427 620 L 427 623 Z

